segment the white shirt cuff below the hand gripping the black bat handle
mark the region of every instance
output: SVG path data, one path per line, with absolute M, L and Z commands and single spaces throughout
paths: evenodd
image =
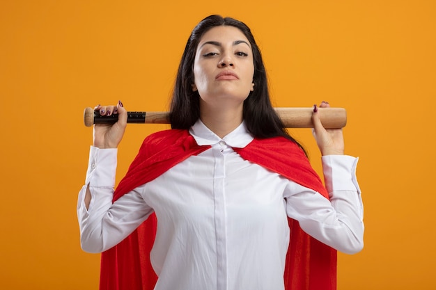
M 118 149 L 100 149 L 91 146 L 85 184 L 90 186 L 115 186 Z

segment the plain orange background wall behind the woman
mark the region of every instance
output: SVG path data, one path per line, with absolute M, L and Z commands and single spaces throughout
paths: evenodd
M 339 255 L 338 289 L 436 289 L 433 0 L 1 0 L 0 289 L 97 289 L 75 212 L 92 141 L 82 111 L 166 110 L 187 37 L 212 13 L 251 26 L 274 106 L 348 111 L 366 245 Z M 166 127 L 128 127 L 118 179 Z M 310 130 L 292 132 L 320 170 Z

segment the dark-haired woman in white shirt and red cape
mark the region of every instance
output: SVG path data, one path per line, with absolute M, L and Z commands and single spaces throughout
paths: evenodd
M 212 15 L 192 31 L 173 129 L 144 140 L 115 192 L 126 110 L 95 110 L 119 115 L 94 126 L 77 205 L 82 248 L 103 252 L 100 289 L 335 289 L 336 250 L 363 247 L 357 159 L 343 155 L 342 130 L 324 129 L 314 106 L 324 187 L 274 113 L 242 22 Z

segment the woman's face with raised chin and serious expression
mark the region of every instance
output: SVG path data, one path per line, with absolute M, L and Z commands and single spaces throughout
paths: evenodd
M 242 31 L 216 26 L 203 35 L 196 50 L 192 86 L 201 102 L 240 105 L 254 89 L 253 76 L 251 45 Z

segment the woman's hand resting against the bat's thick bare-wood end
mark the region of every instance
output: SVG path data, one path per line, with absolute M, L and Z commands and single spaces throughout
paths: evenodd
M 322 101 L 320 108 L 328 108 L 328 102 Z M 316 106 L 314 106 L 316 108 Z M 324 155 L 343 155 L 344 142 L 342 129 L 325 129 L 322 126 L 320 116 L 316 109 L 312 114 L 313 122 L 313 137 L 315 137 L 316 144 L 320 148 L 322 156 Z

